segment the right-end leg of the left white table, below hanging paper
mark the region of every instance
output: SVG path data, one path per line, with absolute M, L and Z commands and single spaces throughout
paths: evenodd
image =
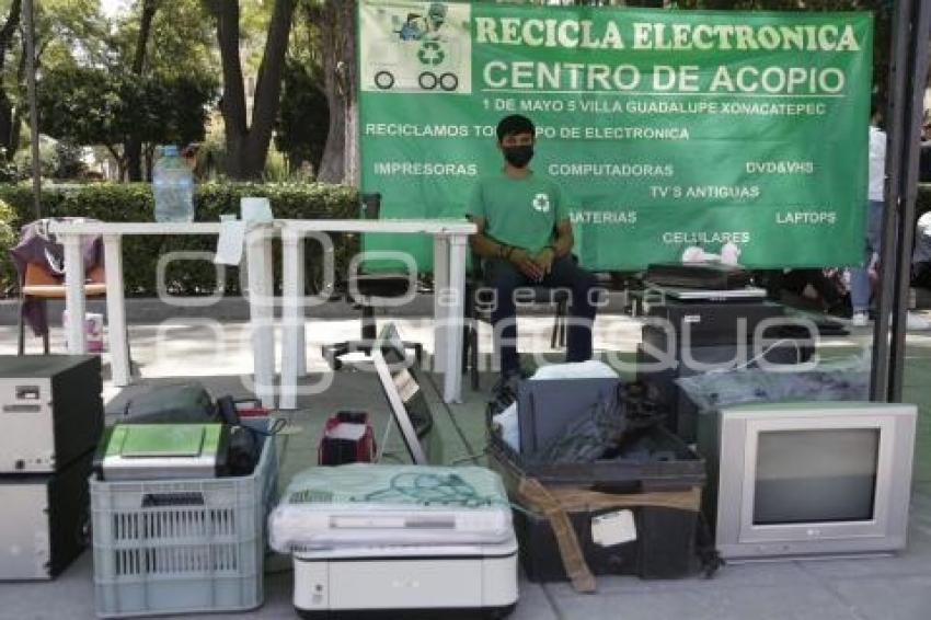
M 269 228 L 261 227 L 250 230 L 245 238 L 252 355 L 255 360 L 255 395 L 267 409 L 275 409 L 275 298 L 272 234 Z

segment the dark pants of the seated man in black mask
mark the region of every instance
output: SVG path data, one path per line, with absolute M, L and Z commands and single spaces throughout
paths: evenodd
M 553 268 L 541 282 L 533 282 L 509 261 L 485 261 L 485 284 L 493 291 L 492 324 L 495 330 L 495 349 L 501 356 L 502 375 L 517 372 L 517 309 L 514 291 L 525 286 L 564 288 L 571 295 L 566 361 L 585 361 L 591 358 L 591 324 L 595 321 L 595 276 L 579 267 L 568 256 L 553 261 Z M 502 321 L 504 324 L 502 325 Z

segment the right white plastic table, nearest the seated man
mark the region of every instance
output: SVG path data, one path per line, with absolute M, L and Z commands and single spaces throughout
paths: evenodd
M 465 259 L 475 225 L 444 219 L 320 219 L 275 220 L 281 231 L 284 309 L 281 346 L 281 409 L 296 409 L 298 377 L 306 371 L 303 241 L 329 232 L 424 233 L 434 238 L 434 357 L 444 372 L 442 398 L 460 402 L 462 391 L 462 326 Z M 379 256 L 370 256 L 378 259 Z

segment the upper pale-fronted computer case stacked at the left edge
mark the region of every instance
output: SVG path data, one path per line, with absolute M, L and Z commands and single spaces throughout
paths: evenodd
M 96 355 L 0 356 L 0 473 L 51 473 L 103 432 Z

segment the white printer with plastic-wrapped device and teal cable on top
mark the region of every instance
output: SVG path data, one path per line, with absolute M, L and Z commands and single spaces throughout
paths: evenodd
M 504 618 L 517 540 L 501 479 L 478 467 L 350 464 L 298 474 L 269 518 L 304 618 Z

